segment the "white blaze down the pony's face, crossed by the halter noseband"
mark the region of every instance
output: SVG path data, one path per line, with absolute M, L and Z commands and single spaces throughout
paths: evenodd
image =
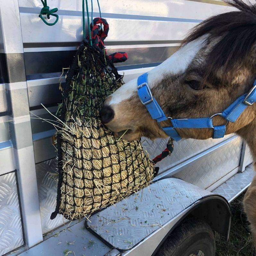
M 203 36 L 188 43 L 163 63 L 150 70 L 148 72 L 149 87 L 152 88 L 158 81 L 161 81 L 164 74 L 184 73 L 195 55 L 204 46 L 206 38 L 207 36 Z M 125 83 L 111 94 L 109 105 L 116 105 L 123 100 L 129 99 L 134 93 L 137 94 L 137 78 Z

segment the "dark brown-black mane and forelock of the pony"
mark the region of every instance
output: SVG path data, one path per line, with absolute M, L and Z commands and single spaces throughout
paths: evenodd
M 183 40 L 182 46 L 209 33 L 220 40 L 211 49 L 206 59 L 207 80 L 214 77 L 220 68 L 230 72 L 234 66 L 244 63 L 256 42 L 256 5 L 242 0 L 224 0 L 238 11 L 218 14 L 195 26 Z M 255 1 L 255 0 L 254 0 Z M 255 2 L 256 3 L 256 2 Z

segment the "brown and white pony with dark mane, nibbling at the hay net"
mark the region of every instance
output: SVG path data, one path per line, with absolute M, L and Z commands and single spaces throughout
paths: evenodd
M 197 25 L 180 49 L 148 72 L 148 84 L 166 116 L 209 117 L 222 112 L 247 93 L 256 79 L 256 7 L 242 0 L 227 0 L 238 11 L 219 14 Z M 137 79 L 121 86 L 104 101 L 100 112 L 107 127 L 132 141 L 140 136 L 166 138 L 141 104 Z M 247 107 L 226 134 L 236 132 L 249 144 L 256 160 L 256 103 Z M 166 122 L 166 123 L 165 123 Z M 161 125 L 169 126 L 168 121 Z M 214 125 L 225 124 L 220 116 Z M 177 129 L 182 138 L 208 139 L 213 129 Z M 256 244 L 256 178 L 244 196 L 244 210 Z

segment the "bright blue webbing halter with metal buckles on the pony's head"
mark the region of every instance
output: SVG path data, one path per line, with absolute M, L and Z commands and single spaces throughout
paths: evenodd
M 203 118 L 186 118 L 186 119 L 173 119 L 166 117 L 162 108 L 159 106 L 156 99 L 152 96 L 151 90 L 148 86 L 148 74 L 145 73 L 138 77 L 138 96 L 141 103 L 148 109 L 149 114 L 155 120 L 157 120 L 160 128 L 166 132 L 174 141 L 181 140 L 180 135 L 175 130 L 176 128 L 213 128 L 213 139 L 223 138 L 226 132 L 226 125 L 228 122 L 235 122 L 236 119 L 242 114 L 243 110 L 251 106 L 256 101 L 256 80 L 254 81 L 252 89 L 248 94 L 244 94 L 236 99 L 231 105 L 229 105 L 222 113 L 217 113 L 211 117 Z M 224 125 L 213 126 L 212 118 L 215 115 L 220 115 L 227 120 Z M 162 127 L 160 122 L 170 120 L 172 126 Z

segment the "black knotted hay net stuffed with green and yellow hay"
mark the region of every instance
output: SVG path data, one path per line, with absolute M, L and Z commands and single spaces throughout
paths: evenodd
M 63 86 L 57 131 L 58 213 L 78 219 L 147 186 L 152 162 L 139 140 L 116 138 L 101 124 L 104 99 L 123 84 L 105 51 L 84 40 Z

